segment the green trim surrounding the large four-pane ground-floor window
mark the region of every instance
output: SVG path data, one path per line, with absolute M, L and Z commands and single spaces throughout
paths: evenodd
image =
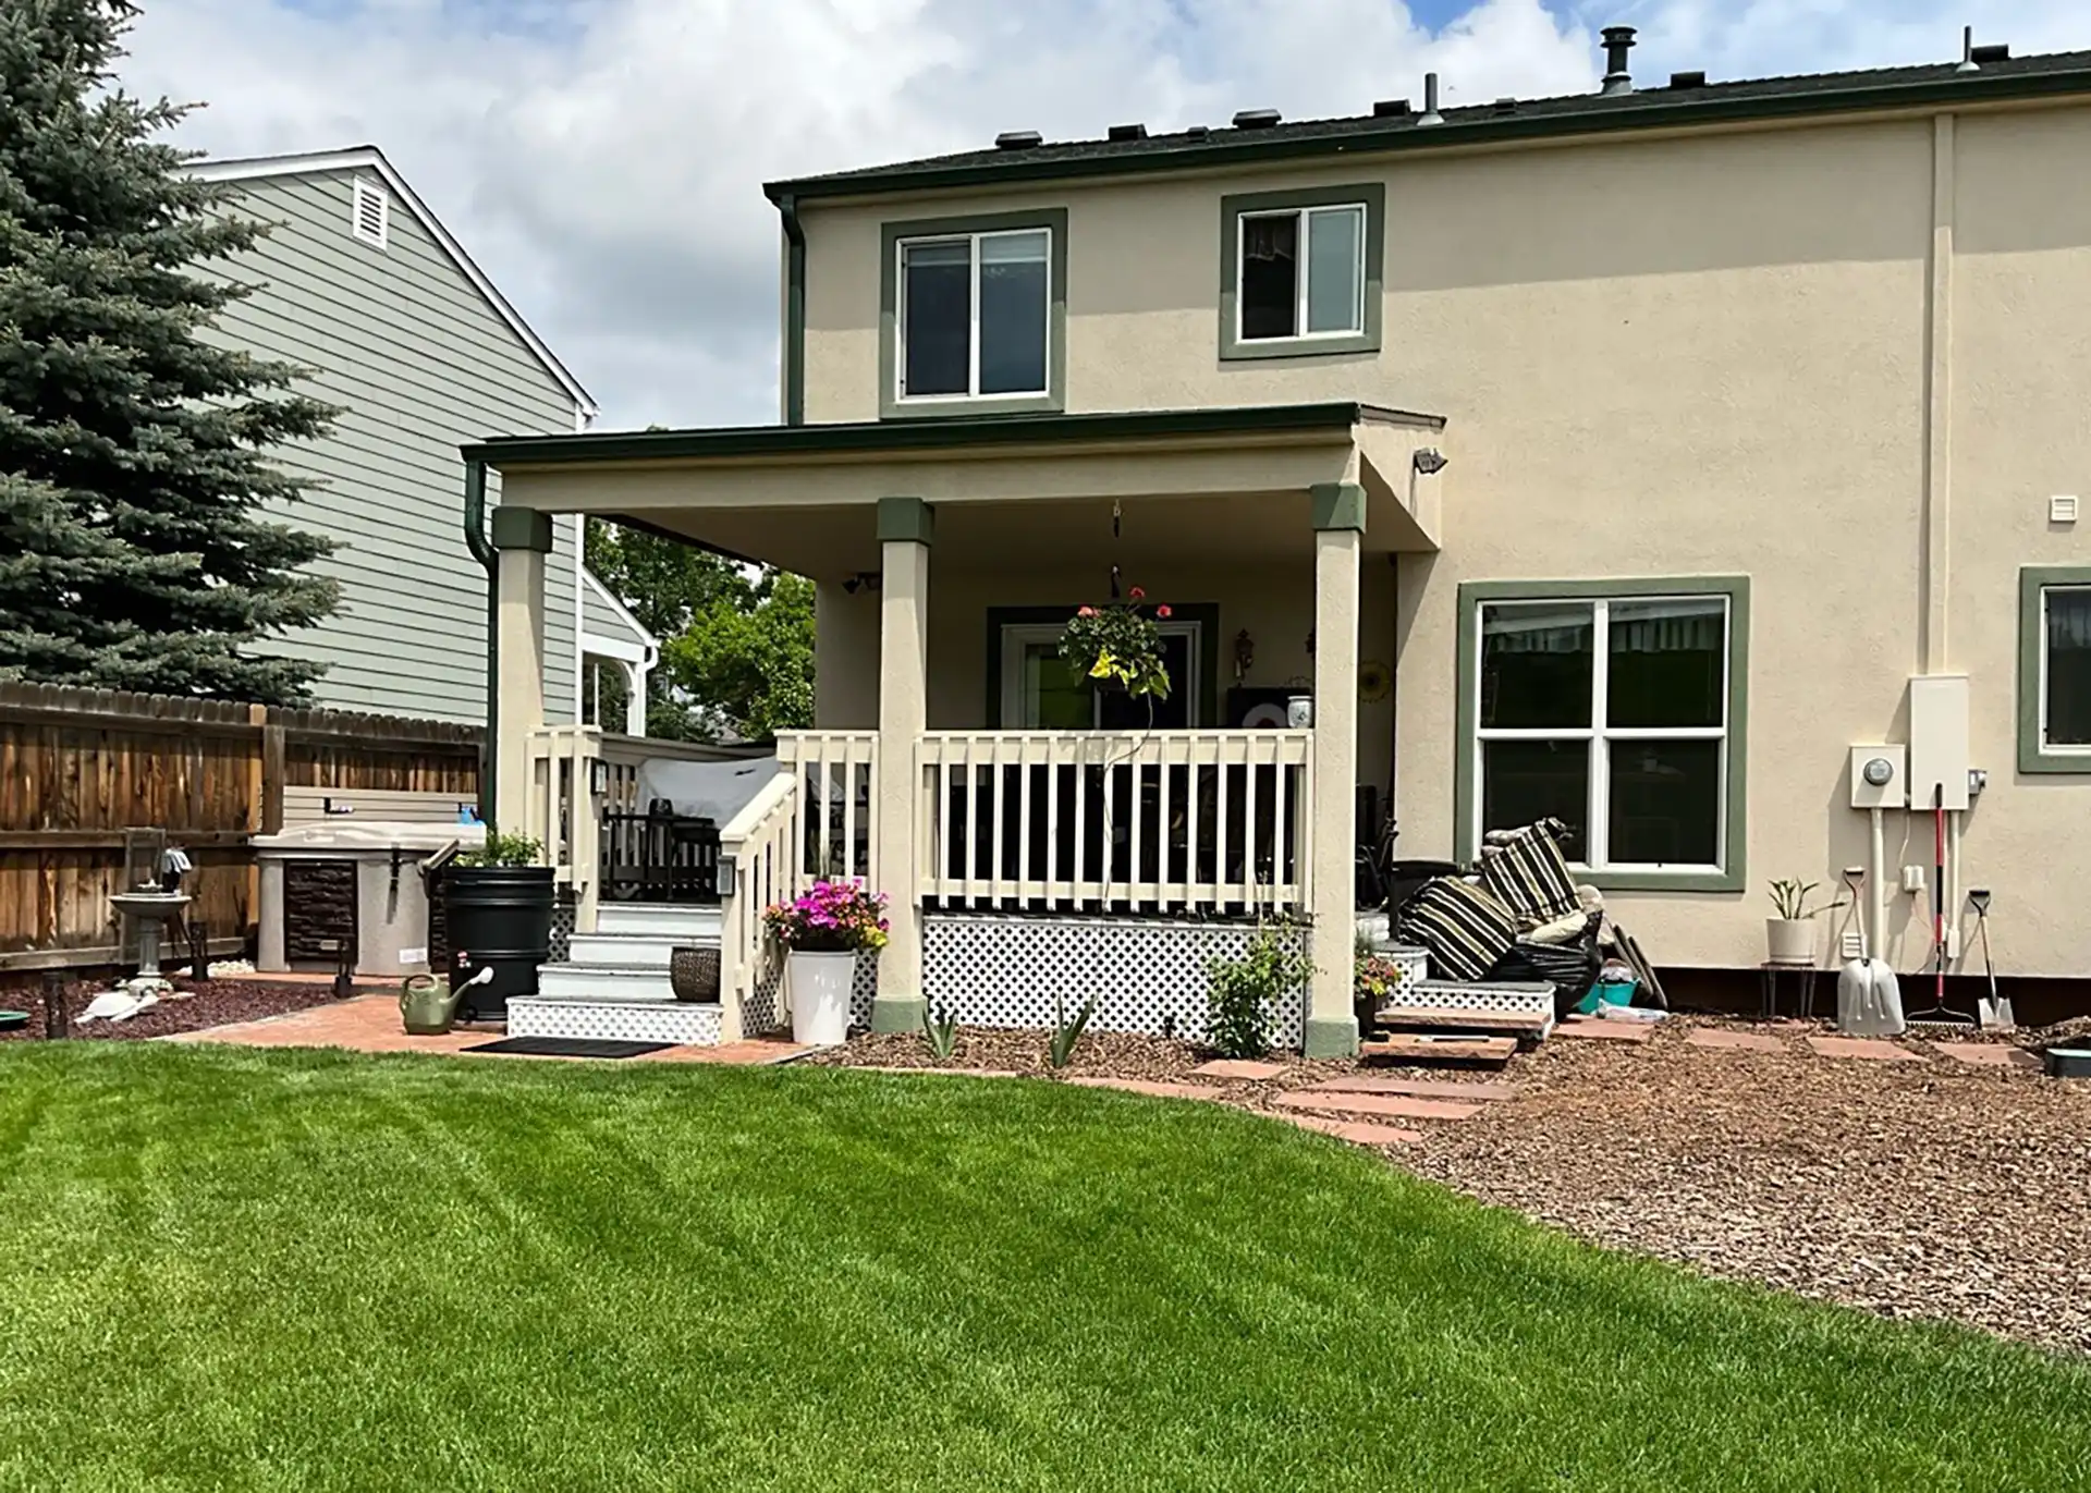
M 1485 602 L 1631 600 L 1635 596 L 1727 598 L 1727 834 L 1717 870 L 1585 870 L 1579 882 L 1600 891 L 1744 891 L 1748 885 L 1750 770 L 1750 577 L 1667 575 L 1610 581 L 1466 581 L 1460 585 L 1460 707 L 1455 723 L 1453 847 L 1476 855 L 1476 715 L 1480 709 L 1480 608 Z

